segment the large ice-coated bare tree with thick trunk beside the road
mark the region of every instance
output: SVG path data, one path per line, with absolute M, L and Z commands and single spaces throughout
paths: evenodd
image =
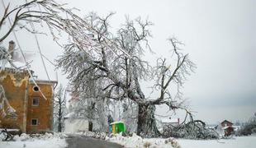
M 192 72 L 194 63 L 178 48 L 181 43 L 177 39 L 169 39 L 173 46 L 173 58 L 176 63 L 170 65 L 165 59 L 159 59 L 156 67 L 143 61 L 143 47 L 149 47 L 149 21 L 140 18 L 126 23 L 114 35 L 109 30 L 109 18 L 102 18 L 95 13 L 85 17 L 93 32 L 93 44 L 72 42 L 64 46 L 64 54 L 57 62 L 68 74 L 73 88 L 77 92 L 95 99 L 131 99 L 138 104 L 137 134 L 141 136 L 159 136 L 156 127 L 155 105 L 166 104 L 170 109 L 183 109 L 180 87 L 183 86 L 187 74 Z M 79 34 L 80 35 L 80 34 Z M 78 36 L 79 36 L 78 35 Z M 156 77 L 154 90 L 159 91 L 156 99 L 146 99 L 141 90 L 140 80 L 149 80 L 152 74 Z M 91 85 L 93 84 L 93 88 Z M 175 84 L 178 90 L 174 96 L 170 86 Z M 95 93 L 88 93 L 92 92 Z

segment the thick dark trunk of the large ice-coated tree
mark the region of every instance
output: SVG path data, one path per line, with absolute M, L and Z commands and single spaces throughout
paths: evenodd
M 153 104 L 139 104 L 137 135 L 144 137 L 159 136 L 154 118 L 155 106 Z

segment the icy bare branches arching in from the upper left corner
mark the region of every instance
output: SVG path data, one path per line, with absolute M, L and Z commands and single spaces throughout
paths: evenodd
M 49 27 L 50 34 L 57 43 L 59 37 L 63 37 L 61 34 L 65 33 L 69 35 L 69 41 L 73 42 L 73 45 L 83 47 L 84 45 L 92 44 L 91 49 L 88 50 L 99 50 L 99 46 L 93 46 L 93 44 L 97 43 L 92 36 L 99 33 L 99 28 L 88 24 L 88 21 L 73 13 L 73 10 L 76 10 L 75 8 L 66 8 L 64 4 L 59 4 L 53 0 L 32 0 L 12 10 L 9 10 L 9 7 L 10 4 L 5 7 L 2 19 L 0 19 L 0 29 L 7 24 L 7 21 L 9 21 L 11 27 L 0 36 L 0 42 L 6 39 L 12 30 L 17 29 L 17 26 L 28 30 L 32 34 L 45 34 L 36 30 L 35 25 L 33 25 L 33 23 L 43 25 L 43 22 L 45 22 L 45 25 Z M 107 41 L 107 43 L 102 42 L 105 46 L 111 42 L 106 35 L 102 35 L 102 39 Z M 117 47 L 117 49 L 125 53 L 121 48 Z

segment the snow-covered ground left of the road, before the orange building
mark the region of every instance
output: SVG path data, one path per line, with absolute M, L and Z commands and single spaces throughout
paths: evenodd
M 31 137 L 26 134 L 15 136 L 15 141 L 0 141 L 0 148 L 64 148 L 67 146 L 64 135 L 48 134 Z

